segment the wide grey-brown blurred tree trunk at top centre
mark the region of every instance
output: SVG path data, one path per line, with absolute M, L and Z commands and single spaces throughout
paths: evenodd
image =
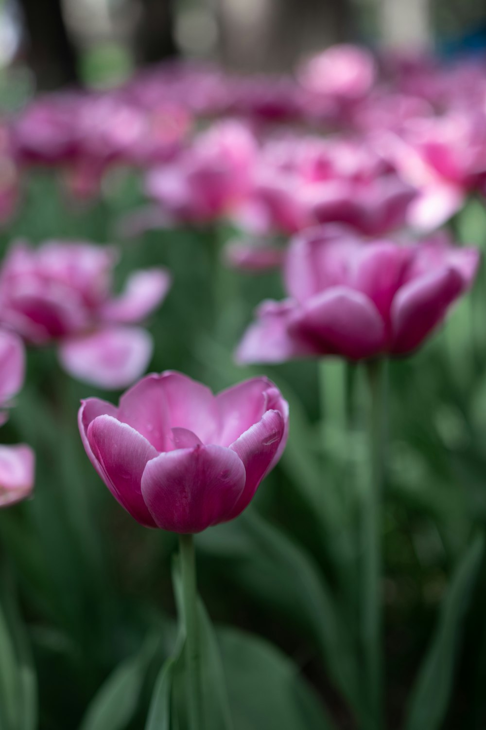
M 222 61 L 290 71 L 313 50 L 353 38 L 351 0 L 219 0 Z

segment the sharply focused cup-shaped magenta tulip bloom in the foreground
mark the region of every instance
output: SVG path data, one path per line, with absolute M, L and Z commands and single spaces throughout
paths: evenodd
M 177 372 L 147 375 L 119 407 L 79 410 L 87 456 L 146 527 L 200 532 L 238 517 L 285 447 L 288 404 L 264 377 L 213 396 Z

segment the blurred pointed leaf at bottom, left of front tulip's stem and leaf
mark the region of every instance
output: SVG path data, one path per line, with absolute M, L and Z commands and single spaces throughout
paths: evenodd
M 152 644 L 154 642 L 151 642 Z M 136 712 L 152 652 L 147 645 L 114 669 L 87 708 L 79 730 L 122 730 Z

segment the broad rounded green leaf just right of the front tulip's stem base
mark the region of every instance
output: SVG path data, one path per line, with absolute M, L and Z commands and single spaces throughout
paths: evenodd
M 331 730 L 299 669 L 264 639 L 218 632 L 235 730 Z M 212 730 L 212 729 L 211 729 Z

